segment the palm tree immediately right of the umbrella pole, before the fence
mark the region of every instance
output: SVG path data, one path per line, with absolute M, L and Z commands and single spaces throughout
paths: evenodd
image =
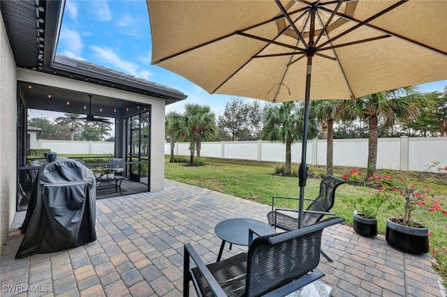
M 333 155 L 334 155 L 334 121 L 336 120 L 335 109 L 339 100 L 314 100 L 312 107 L 314 108 L 316 118 L 321 122 L 321 130 L 323 139 L 327 139 L 326 148 L 326 174 L 333 174 Z

